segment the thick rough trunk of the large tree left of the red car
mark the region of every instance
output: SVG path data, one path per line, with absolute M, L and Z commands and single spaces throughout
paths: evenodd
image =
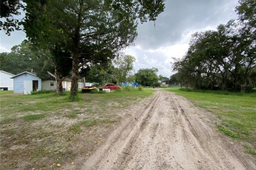
M 72 77 L 70 93 L 72 97 L 77 96 L 77 80 L 78 80 L 78 53 L 74 53 L 72 62 Z

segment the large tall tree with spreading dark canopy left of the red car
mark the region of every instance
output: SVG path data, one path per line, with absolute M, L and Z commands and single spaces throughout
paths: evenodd
M 131 45 L 137 36 L 135 19 L 155 20 L 164 10 L 162 0 L 25 2 L 27 13 L 23 25 L 29 40 L 53 50 L 58 46 L 71 55 L 71 96 L 77 95 L 81 66 L 113 58 L 109 54 Z M 95 57 L 97 54 L 101 55 Z

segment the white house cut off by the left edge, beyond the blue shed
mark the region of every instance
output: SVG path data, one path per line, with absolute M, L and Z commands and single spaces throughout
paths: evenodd
M 0 90 L 13 90 L 13 77 L 11 73 L 0 71 Z

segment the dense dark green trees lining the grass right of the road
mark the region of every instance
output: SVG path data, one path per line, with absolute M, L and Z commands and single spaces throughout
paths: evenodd
M 251 91 L 256 85 L 256 0 L 239 1 L 238 20 L 196 32 L 172 78 L 193 89 Z

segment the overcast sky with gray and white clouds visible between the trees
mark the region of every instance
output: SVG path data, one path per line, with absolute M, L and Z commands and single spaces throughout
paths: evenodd
M 238 0 L 166 0 L 165 10 L 154 22 L 138 25 L 134 46 L 124 50 L 136 58 L 135 71 L 157 67 L 158 75 L 170 77 L 172 57 L 182 57 L 188 49 L 191 34 L 214 30 L 220 23 L 236 19 Z M 22 31 L 6 36 L 0 31 L 0 52 L 10 52 L 26 38 Z

